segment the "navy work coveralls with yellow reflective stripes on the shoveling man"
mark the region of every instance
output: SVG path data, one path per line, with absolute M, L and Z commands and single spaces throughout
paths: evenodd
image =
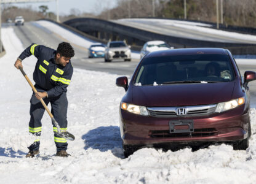
M 50 102 L 52 106 L 52 115 L 54 115 L 55 120 L 58 122 L 58 125 L 60 125 L 61 131 L 66 131 L 68 125 L 68 121 L 66 120 L 66 113 L 68 110 L 66 88 L 70 84 L 73 74 L 73 66 L 71 62 L 66 64 L 65 67 L 55 64 L 55 54 L 56 50 L 52 48 L 45 47 L 44 45 L 32 44 L 22 52 L 19 58 L 23 60 L 31 55 L 38 58 L 33 73 L 33 79 L 34 82 L 36 82 L 34 87 L 39 92 L 47 92 L 48 97 L 44 98 L 44 102 L 46 105 Z M 41 136 L 41 119 L 44 111 L 44 106 L 42 106 L 41 102 L 33 93 L 30 99 L 29 131 L 34 136 Z M 55 132 L 57 132 L 57 128 L 54 126 L 54 142 L 57 151 L 66 150 L 68 147 L 66 139 L 57 136 Z M 36 151 L 39 150 L 39 145 L 40 141 L 37 138 L 28 148 L 30 151 Z

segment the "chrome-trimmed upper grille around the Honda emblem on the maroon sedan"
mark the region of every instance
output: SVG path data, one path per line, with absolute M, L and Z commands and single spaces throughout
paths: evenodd
M 178 115 L 177 109 L 186 109 L 185 115 Z M 171 117 L 196 117 L 210 115 L 215 112 L 216 105 L 198 105 L 188 107 L 147 107 L 151 117 L 171 118 Z

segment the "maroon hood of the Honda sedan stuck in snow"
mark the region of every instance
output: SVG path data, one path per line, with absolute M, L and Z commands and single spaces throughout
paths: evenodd
M 236 82 L 133 86 L 132 103 L 146 107 L 217 104 L 232 98 Z

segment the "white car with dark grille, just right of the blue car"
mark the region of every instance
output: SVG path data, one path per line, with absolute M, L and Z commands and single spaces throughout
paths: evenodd
M 113 59 L 124 59 L 124 61 L 130 61 L 130 45 L 127 45 L 124 41 L 108 42 L 105 50 L 105 62 L 110 62 Z

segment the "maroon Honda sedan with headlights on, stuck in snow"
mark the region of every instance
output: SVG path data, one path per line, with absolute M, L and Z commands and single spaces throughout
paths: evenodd
M 120 105 L 124 155 L 141 147 L 175 149 L 217 142 L 249 147 L 250 94 L 256 74 L 239 72 L 229 50 L 185 48 L 146 55 Z

